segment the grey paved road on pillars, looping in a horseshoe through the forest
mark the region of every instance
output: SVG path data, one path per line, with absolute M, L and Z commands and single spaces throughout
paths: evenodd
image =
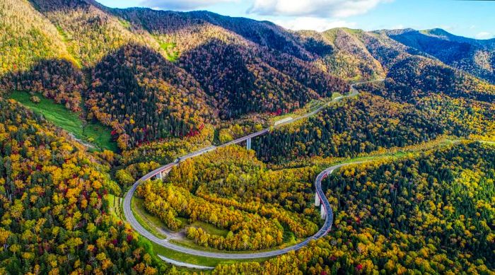
M 383 80 L 380 79 L 377 81 L 383 81 Z M 332 100 L 332 102 L 342 100 L 342 98 L 346 98 L 346 97 L 349 97 L 352 95 L 356 95 L 356 93 L 358 93 L 358 92 L 357 92 L 356 88 L 354 88 L 354 86 L 361 84 L 361 83 L 367 83 L 367 82 L 375 82 L 375 81 L 363 81 L 363 82 L 359 82 L 359 83 L 354 83 L 351 85 L 351 91 L 350 91 L 349 95 L 343 95 L 343 96 L 339 96 L 338 98 L 334 98 L 334 100 Z M 297 118 L 291 119 L 287 122 L 277 124 L 273 128 L 278 128 L 278 127 L 281 127 L 285 124 L 290 124 L 292 122 L 296 122 L 299 119 L 303 119 L 305 117 L 310 117 L 311 115 L 315 115 L 316 113 L 323 110 L 323 108 L 325 108 L 329 104 L 330 103 L 322 105 L 321 107 L 318 107 L 318 109 L 313 110 L 312 112 L 309 112 L 308 114 L 305 114 L 301 117 L 297 117 Z M 232 144 L 239 144 L 243 141 L 246 141 L 247 139 L 252 139 L 256 136 L 266 134 L 269 131 L 270 131 L 270 128 L 263 129 L 262 131 L 257 131 L 253 134 L 250 134 L 248 136 L 244 136 L 240 139 L 235 139 L 233 141 L 227 142 L 226 144 L 222 144 L 218 147 L 225 147 L 225 146 L 229 146 Z M 206 252 L 206 251 L 202 251 L 202 250 L 193 250 L 191 248 L 175 245 L 173 243 L 168 242 L 168 240 L 156 237 L 155 235 L 148 232 L 148 230 L 146 230 L 143 226 L 141 226 L 141 224 L 139 224 L 139 222 L 134 217 L 134 214 L 132 213 L 132 209 L 131 209 L 132 196 L 133 196 L 134 192 L 136 191 L 136 188 L 141 184 L 141 182 L 145 182 L 146 180 L 151 179 L 151 177 L 155 177 L 156 175 L 158 175 L 162 172 L 170 171 L 170 169 L 172 169 L 174 166 L 178 165 L 180 162 L 186 160 L 187 158 L 194 158 L 195 156 L 202 155 L 203 153 L 213 151 L 216 148 L 217 147 L 215 147 L 215 146 L 209 146 L 207 148 L 202 148 L 198 151 L 194 151 L 192 153 L 189 153 L 185 156 L 177 158 L 173 163 L 169 163 L 167 165 L 162 166 L 161 168 L 157 168 L 156 170 L 149 172 L 148 174 L 144 175 L 144 177 L 141 177 L 139 180 L 137 180 L 134 183 L 134 185 L 132 185 L 132 187 L 129 189 L 129 191 L 127 192 L 127 194 L 124 198 L 124 216 L 127 218 L 127 221 L 131 224 L 132 228 L 134 228 L 134 230 L 136 230 L 139 234 L 143 235 L 148 240 L 151 240 L 151 242 L 154 242 L 157 245 L 161 245 L 163 247 L 166 247 L 170 250 L 175 250 L 177 252 L 192 254 L 192 255 L 196 255 L 196 256 L 212 257 L 212 258 L 220 258 L 220 259 L 256 259 L 256 258 L 273 257 L 273 256 L 277 256 L 280 254 L 285 254 L 289 251 L 301 249 L 301 247 L 304 247 L 305 245 L 307 245 L 308 242 L 310 242 L 310 240 L 317 240 L 319 238 L 322 238 L 332 228 L 332 222 L 333 222 L 332 207 L 330 206 L 330 203 L 328 202 L 327 197 L 325 197 L 325 192 L 323 192 L 323 190 L 321 189 L 321 180 L 324 179 L 328 174 L 333 172 L 333 170 L 340 168 L 344 165 L 349 165 L 351 163 L 334 165 L 334 166 L 327 168 L 326 170 L 322 171 L 320 173 L 320 175 L 318 175 L 318 177 L 316 177 L 315 189 L 316 189 L 316 192 L 318 193 L 318 197 L 320 197 L 321 203 L 323 204 L 323 206 L 325 207 L 325 210 L 327 212 L 327 216 L 325 218 L 325 223 L 322 226 L 322 228 L 317 233 L 315 233 L 315 235 L 313 235 L 310 238 L 307 238 L 306 240 L 304 240 L 303 242 L 299 242 L 298 244 L 293 245 L 291 247 L 286 247 L 286 248 L 283 248 L 280 250 L 272 250 L 272 251 L 266 251 L 266 252 L 252 252 L 252 253 Z

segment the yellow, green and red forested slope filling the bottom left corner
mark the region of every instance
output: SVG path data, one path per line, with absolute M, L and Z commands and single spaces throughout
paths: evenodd
M 0 272 L 165 272 L 132 228 L 109 213 L 120 193 L 105 162 L 0 98 Z

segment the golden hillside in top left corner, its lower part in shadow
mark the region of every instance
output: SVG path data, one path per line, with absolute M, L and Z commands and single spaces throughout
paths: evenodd
M 57 28 L 27 1 L 2 1 L 0 13 L 0 93 L 28 90 L 80 110 L 83 79 Z

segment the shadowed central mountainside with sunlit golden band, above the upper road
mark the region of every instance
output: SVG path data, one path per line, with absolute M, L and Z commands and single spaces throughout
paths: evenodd
M 149 30 L 161 45 L 173 45 L 180 53 L 179 66 L 216 98 L 222 117 L 288 112 L 310 99 L 347 89 L 305 62 L 309 53 L 295 44 L 291 33 L 269 23 L 206 12 L 116 12 Z

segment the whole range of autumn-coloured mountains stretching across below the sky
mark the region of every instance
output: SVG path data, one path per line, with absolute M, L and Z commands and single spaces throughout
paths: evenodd
M 494 100 L 495 40 L 441 29 L 295 32 L 92 0 L 6 0 L 0 13 L 2 88 L 83 109 L 121 147 L 252 112 L 291 112 L 347 92 L 349 79 L 388 77 L 403 98 L 414 89 Z

